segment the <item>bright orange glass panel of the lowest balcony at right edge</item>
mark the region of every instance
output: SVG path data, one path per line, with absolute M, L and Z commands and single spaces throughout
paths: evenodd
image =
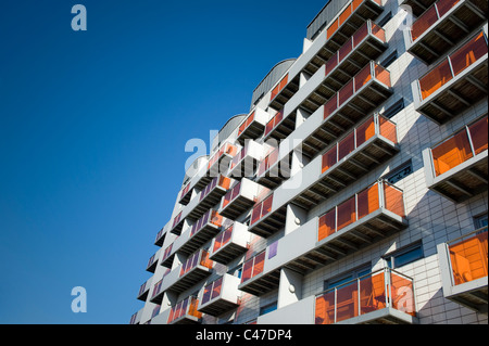
M 449 247 L 455 285 L 488 275 L 487 230 Z

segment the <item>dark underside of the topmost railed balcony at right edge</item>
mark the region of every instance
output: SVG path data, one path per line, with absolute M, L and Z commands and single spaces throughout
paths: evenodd
M 426 30 L 408 51 L 426 64 L 432 64 L 487 21 L 487 0 L 457 4 L 456 10 Z

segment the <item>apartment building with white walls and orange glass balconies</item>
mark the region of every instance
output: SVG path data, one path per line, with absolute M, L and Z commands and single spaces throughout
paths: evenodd
M 330 0 L 188 169 L 130 323 L 487 323 L 487 0 Z

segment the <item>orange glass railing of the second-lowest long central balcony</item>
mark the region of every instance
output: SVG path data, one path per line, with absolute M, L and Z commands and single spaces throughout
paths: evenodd
M 356 193 L 319 218 L 317 241 L 323 241 L 379 208 L 390 210 L 402 218 L 405 217 L 402 191 L 383 181 Z

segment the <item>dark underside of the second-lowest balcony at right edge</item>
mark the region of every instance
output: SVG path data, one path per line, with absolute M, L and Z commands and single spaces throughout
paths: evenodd
M 475 163 L 460 169 L 455 167 L 443 176 L 435 178 L 434 184 L 428 188 L 444 197 L 456 203 L 464 202 L 473 196 L 488 190 L 488 158 L 487 151 L 481 158 L 475 157 Z M 479 156 L 478 155 L 478 156 Z M 471 161 L 474 161 L 472 158 Z

